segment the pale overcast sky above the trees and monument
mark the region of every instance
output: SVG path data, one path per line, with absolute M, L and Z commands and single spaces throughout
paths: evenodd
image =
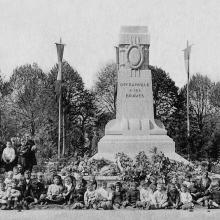
M 191 72 L 220 80 L 219 0 L 0 0 L 0 70 L 6 79 L 22 64 L 45 71 L 57 62 L 54 43 L 62 37 L 64 59 L 87 87 L 105 63 L 115 60 L 122 25 L 146 25 L 150 64 L 186 82 L 182 49 L 193 43 Z

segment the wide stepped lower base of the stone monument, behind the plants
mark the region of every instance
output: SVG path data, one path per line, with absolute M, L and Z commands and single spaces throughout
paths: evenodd
M 172 160 L 189 163 L 186 159 L 175 153 L 175 143 L 167 135 L 105 135 L 98 143 L 98 153 L 94 159 L 107 159 L 114 161 L 119 152 L 134 158 L 140 151 L 150 155 L 152 148 L 156 147 L 158 152 L 162 151 L 165 156 Z

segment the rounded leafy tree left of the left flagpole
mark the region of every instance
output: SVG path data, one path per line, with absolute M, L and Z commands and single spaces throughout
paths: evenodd
M 46 75 L 37 64 L 17 67 L 10 78 L 8 108 L 19 130 L 35 135 L 44 120 Z

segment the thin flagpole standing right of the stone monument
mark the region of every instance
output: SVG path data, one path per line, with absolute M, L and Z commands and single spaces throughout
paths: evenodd
M 186 47 L 189 47 L 189 42 L 187 40 Z M 190 137 L 190 122 L 189 122 L 189 60 L 190 56 L 188 56 L 187 62 L 187 153 L 188 153 L 188 160 L 190 161 L 190 145 L 189 145 L 189 137 Z

